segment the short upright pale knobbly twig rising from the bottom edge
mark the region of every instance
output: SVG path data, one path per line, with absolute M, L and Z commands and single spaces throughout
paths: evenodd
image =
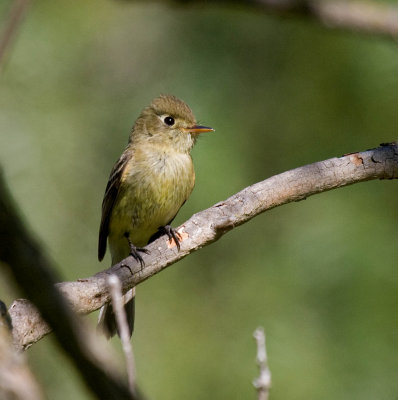
M 257 389 L 258 400 L 268 400 L 271 387 L 271 371 L 268 368 L 264 329 L 257 328 L 253 333 L 253 337 L 257 343 L 257 365 L 260 370 L 260 376 L 253 381 L 253 385 Z

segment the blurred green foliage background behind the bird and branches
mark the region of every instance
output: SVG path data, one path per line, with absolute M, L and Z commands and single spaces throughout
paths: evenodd
M 239 7 L 36 0 L 0 93 L 0 164 L 61 280 L 109 266 L 105 185 L 160 93 L 216 129 L 193 151 L 175 226 L 274 174 L 398 139 L 395 42 Z M 261 325 L 272 400 L 398 398 L 397 196 L 372 181 L 274 209 L 139 285 L 142 391 L 256 398 Z M 0 298 L 18 295 L 1 276 Z M 27 354 L 49 399 L 91 399 L 51 335 Z

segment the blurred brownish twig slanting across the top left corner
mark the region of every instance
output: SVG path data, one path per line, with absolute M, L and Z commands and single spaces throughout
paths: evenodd
M 10 48 L 18 28 L 21 26 L 29 4 L 30 0 L 14 0 L 11 6 L 8 20 L 0 36 L 0 72 L 4 65 L 6 51 Z

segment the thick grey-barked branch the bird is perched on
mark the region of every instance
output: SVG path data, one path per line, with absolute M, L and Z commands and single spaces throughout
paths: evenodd
M 397 143 L 296 168 L 249 186 L 229 199 L 193 215 L 179 228 L 183 237 L 179 252 L 175 245 L 162 237 L 147 246 L 150 254 L 143 254 L 146 267 L 142 270 L 132 257 L 128 257 L 90 278 L 62 282 L 57 286 L 77 312 L 89 313 L 110 300 L 106 285 L 109 274 L 119 277 L 125 292 L 264 211 L 342 186 L 372 179 L 396 178 Z M 28 346 L 48 332 L 42 320 L 32 315 L 26 307 L 26 301 L 17 300 L 9 310 L 15 340 L 22 346 Z M 29 332 L 26 325 L 20 325 L 28 316 Z

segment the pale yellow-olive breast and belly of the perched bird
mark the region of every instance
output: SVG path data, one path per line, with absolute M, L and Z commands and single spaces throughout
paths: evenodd
M 175 217 L 194 186 L 190 157 L 188 161 L 163 160 L 162 165 L 155 164 L 150 170 L 135 165 L 124 176 L 109 225 L 109 247 L 114 262 L 129 254 L 126 234 L 135 246 L 143 247 L 160 227 Z

